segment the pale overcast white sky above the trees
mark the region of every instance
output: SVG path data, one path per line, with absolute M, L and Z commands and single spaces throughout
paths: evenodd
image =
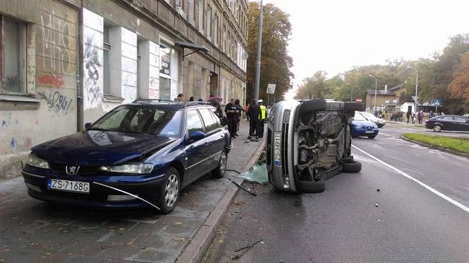
M 251 1 L 251 0 L 250 0 Z M 263 0 L 290 14 L 296 88 L 316 71 L 429 58 L 469 33 L 467 0 Z M 262 69 L 261 69 L 262 70 Z

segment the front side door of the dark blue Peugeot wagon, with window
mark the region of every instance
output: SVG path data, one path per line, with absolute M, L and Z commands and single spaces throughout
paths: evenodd
M 189 110 L 187 112 L 187 123 L 186 123 L 186 146 L 184 152 L 187 158 L 186 165 L 186 183 L 193 182 L 201 177 L 206 170 L 206 159 L 208 156 L 204 153 L 206 148 L 206 139 L 189 139 L 189 134 L 193 131 L 202 131 L 203 122 L 198 115 L 197 110 Z M 185 183 L 184 183 L 185 185 Z

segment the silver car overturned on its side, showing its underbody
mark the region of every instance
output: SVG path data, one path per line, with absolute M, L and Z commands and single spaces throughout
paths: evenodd
M 289 100 L 276 103 L 268 122 L 268 180 L 280 191 L 323 192 L 325 181 L 362 164 L 350 152 L 350 127 L 362 103 Z

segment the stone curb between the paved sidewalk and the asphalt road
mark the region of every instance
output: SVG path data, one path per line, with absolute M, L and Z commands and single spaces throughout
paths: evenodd
M 254 163 L 256 163 L 256 160 L 259 158 L 259 156 L 261 156 L 261 152 L 263 151 L 265 145 L 266 141 L 263 140 L 256 148 L 256 151 L 254 151 L 254 155 L 251 156 L 247 163 L 244 164 L 244 167 L 240 173 L 244 173 L 252 165 L 254 165 Z M 239 185 L 242 185 L 244 182 L 242 178 L 238 177 L 233 179 L 233 181 L 237 182 Z M 217 206 L 215 206 L 215 209 L 213 209 L 213 211 L 210 213 L 210 216 L 208 216 L 205 223 L 203 223 L 201 228 L 197 230 L 196 235 L 194 238 L 192 238 L 189 245 L 174 262 L 196 263 L 201 259 L 203 253 L 205 253 L 206 249 L 210 245 L 210 242 L 215 236 L 216 229 L 218 226 L 220 226 L 223 218 L 225 218 L 225 215 L 238 192 L 239 188 L 236 185 L 232 184 L 230 187 L 228 187 L 225 196 L 223 196 L 220 202 L 218 202 Z

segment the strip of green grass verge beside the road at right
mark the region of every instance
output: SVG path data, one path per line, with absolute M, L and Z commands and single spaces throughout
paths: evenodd
M 447 148 L 449 150 L 469 154 L 469 140 L 465 138 L 434 136 L 414 133 L 405 133 L 402 134 L 402 136 L 413 141 L 420 141 L 424 144 L 429 144 L 431 146 Z

